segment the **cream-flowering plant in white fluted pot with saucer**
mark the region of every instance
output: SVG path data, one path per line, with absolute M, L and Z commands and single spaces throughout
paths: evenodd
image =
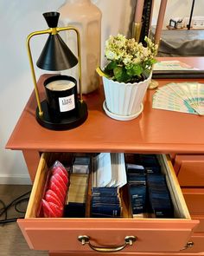
M 109 36 L 105 42 L 108 63 L 99 70 L 105 89 L 105 113 L 114 119 L 131 120 L 143 111 L 143 96 L 150 84 L 157 45 L 150 38 L 146 46 L 134 38 Z

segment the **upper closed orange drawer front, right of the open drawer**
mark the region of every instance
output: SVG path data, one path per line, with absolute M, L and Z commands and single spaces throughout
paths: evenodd
M 203 187 L 204 155 L 178 154 L 175 156 L 175 173 L 181 187 Z

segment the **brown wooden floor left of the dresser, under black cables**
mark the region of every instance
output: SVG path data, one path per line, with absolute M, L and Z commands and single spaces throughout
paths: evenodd
M 0 185 L 0 200 L 9 205 L 18 196 L 29 192 L 29 185 Z M 22 203 L 21 209 L 26 208 L 27 203 Z M 3 205 L 0 204 L 2 209 Z M 8 212 L 8 219 L 22 216 L 23 213 L 16 213 L 14 207 Z M 0 218 L 2 220 L 4 216 Z M 1 256 L 38 256 L 48 255 L 48 252 L 33 251 L 29 249 L 21 230 L 16 222 L 0 225 L 0 255 Z

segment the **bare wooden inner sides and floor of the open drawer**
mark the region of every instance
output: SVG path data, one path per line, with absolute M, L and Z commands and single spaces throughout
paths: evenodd
M 30 196 L 29 206 L 27 209 L 27 213 L 25 218 L 39 218 L 40 208 L 41 208 L 41 198 L 45 193 L 46 184 L 48 181 L 48 169 L 55 160 L 61 161 L 65 166 L 72 163 L 74 154 L 66 154 L 66 153 L 43 153 L 41 154 L 41 161 L 39 163 L 39 167 L 35 176 L 35 183 L 33 186 L 33 191 Z M 188 213 L 188 208 L 186 207 L 185 200 L 183 199 L 181 189 L 179 187 L 178 181 L 175 177 L 174 169 L 171 165 L 171 161 L 169 156 L 158 154 L 158 161 L 162 167 L 162 172 L 166 176 L 167 185 L 169 187 L 169 194 L 171 196 L 171 200 L 174 205 L 175 210 L 175 219 L 190 219 L 190 215 Z M 90 179 L 91 180 L 91 179 Z M 127 189 L 124 188 L 121 190 L 121 199 L 123 212 L 122 217 L 130 218 L 130 203 L 127 200 Z M 87 207 L 86 207 L 86 217 L 90 217 L 90 200 L 91 200 L 91 185 L 88 189 L 87 196 Z M 145 219 L 145 218 L 144 218 Z

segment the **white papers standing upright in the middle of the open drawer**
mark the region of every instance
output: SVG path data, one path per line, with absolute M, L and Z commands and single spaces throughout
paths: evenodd
M 100 153 L 93 164 L 92 187 L 123 187 L 127 183 L 124 154 Z

